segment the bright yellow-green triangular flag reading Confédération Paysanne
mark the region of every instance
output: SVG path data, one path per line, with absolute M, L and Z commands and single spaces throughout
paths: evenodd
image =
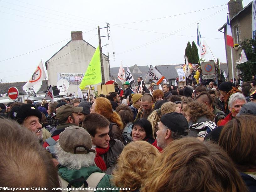
M 83 76 L 83 80 L 80 84 L 80 89 L 83 90 L 87 85 L 95 85 L 100 82 L 101 82 L 101 66 L 100 66 L 100 55 L 99 55 L 99 46 L 98 46 Z

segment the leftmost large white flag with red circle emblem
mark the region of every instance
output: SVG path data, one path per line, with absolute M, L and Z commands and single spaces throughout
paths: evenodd
M 46 78 L 46 73 L 43 66 L 43 62 L 41 61 L 39 65 L 36 67 L 35 72 L 33 73 L 30 80 L 23 87 L 30 88 L 36 85 L 37 83 L 42 82 L 45 78 Z

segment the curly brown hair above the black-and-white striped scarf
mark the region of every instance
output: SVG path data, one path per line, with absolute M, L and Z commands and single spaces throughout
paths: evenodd
M 205 116 L 211 121 L 213 121 L 215 118 L 215 115 L 212 113 L 212 111 L 210 111 L 204 104 L 199 103 L 198 101 L 193 101 L 187 104 L 186 107 L 184 107 L 182 110 L 184 113 L 188 111 L 189 119 L 192 122 L 196 122 L 198 118 L 202 116 Z

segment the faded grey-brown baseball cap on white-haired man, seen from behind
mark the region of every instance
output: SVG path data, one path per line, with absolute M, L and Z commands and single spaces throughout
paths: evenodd
M 75 125 L 67 127 L 60 133 L 59 144 L 63 151 L 72 154 L 86 154 L 94 152 L 90 134 L 82 127 Z

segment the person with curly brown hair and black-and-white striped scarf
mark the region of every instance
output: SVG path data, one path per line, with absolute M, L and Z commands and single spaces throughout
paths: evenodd
M 190 132 L 188 136 L 205 137 L 205 135 L 217 127 L 213 121 L 215 115 L 205 104 L 193 101 L 187 104 L 182 110 L 189 123 Z

